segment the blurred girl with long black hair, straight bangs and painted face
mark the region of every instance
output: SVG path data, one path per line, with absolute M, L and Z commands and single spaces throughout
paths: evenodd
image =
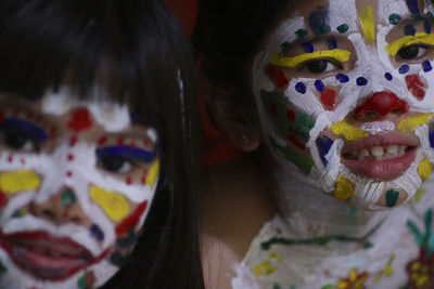
M 188 51 L 157 0 L 0 3 L 0 288 L 202 288 Z

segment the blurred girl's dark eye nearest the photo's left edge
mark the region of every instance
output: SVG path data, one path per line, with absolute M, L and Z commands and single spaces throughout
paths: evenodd
M 26 153 L 38 152 L 38 142 L 33 135 L 18 128 L 0 129 L 0 142 L 7 148 L 22 150 Z

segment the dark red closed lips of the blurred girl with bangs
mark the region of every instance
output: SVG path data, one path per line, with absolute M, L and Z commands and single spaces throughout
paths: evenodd
M 0 245 L 22 270 L 38 279 L 62 280 L 101 261 L 108 253 L 93 258 L 91 252 L 69 238 L 56 238 L 46 232 L 0 235 Z

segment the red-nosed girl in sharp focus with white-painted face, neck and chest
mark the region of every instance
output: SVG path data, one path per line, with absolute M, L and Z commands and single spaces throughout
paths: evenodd
M 227 165 L 243 179 L 214 196 L 210 288 L 433 288 L 433 3 L 204 1 L 201 13 L 215 121 L 243 150 L 260 140 L 267 161 L 247 176 Z

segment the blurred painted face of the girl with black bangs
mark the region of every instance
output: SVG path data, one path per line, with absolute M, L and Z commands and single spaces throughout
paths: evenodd
M 56 94 L 0 96 L 1 288 L 101 286 L 154 196 L 155 131 L 127 106 Z

